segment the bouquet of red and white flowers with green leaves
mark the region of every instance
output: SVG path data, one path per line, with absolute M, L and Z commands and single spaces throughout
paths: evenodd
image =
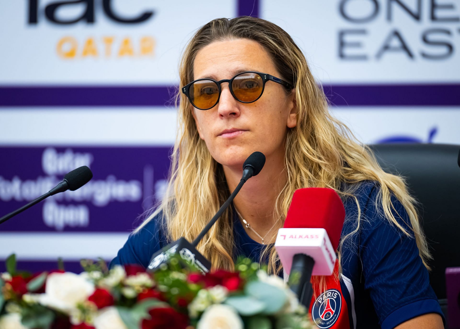
M 1 329 L 309 329 L 284 281 L 249 259 L 235 272 L 201 275 L 178 259 L 153 274 L 81 261 L 84 272 L 0 274 Z

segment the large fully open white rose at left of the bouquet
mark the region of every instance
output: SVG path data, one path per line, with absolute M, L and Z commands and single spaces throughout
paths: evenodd
M 86 301 L 94 290 L 94 284 L 78 274 L 51 273 L 46 279 L 45 293 L 40 294 L 39 302 L 69 314 L 77 303 Z

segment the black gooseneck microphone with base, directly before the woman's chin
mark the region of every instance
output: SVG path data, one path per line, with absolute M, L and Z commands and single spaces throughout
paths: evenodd
M 222 204 L 220 209 L 214 215 L 214 217 L 207 223 L 203 228 L 200 234 L 193 240 L 192 243 L 188 242 L 184 237 L 179 238 L 177 241 L 174 241 L 171 244 L 168 244 L 166 247 L 162 248 L 155 252 L 150 259 L 150 264 L 147 267 L 147 272 L 155 272 L 161 264 L 167 263 L 171 257 L 178 255 L 180 259 L 185 262 L 185 265 L 192 265 L 196 267 L 201 273 L 205 274 L 211 270 L 211 262 L 208 261 L 203 255 L 196 250 L 196 245 L 201 241 L 209 229 L 214 225 L 214 223 L 219 219 L 220 216 L 224 213 L 230 203 L 235 199 L 236 194 L 240 192 L 243 184 L 252 176 L 259 174 L 260 170 L 264 167 L 265 164 L 265 155 L 261 152 L 252 153 L 243 164 L 243 176 L 236 186 L 233 193 L 230 194 L 230 197 Z

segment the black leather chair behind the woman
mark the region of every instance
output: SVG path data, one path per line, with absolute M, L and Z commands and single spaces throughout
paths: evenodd
M 407 178 L 433 255 L 430 283 L 447 319 L 446 267 L 460 267 L 460 145 L 369 145 L 382 168 Z

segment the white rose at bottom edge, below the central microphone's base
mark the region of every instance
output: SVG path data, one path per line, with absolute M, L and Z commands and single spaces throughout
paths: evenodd
M 229 305 L 214 304 L 201 316 L 196 329 L 243 329 L 243 320 Z M 99 328 L 97 328 L 99 329 Z

